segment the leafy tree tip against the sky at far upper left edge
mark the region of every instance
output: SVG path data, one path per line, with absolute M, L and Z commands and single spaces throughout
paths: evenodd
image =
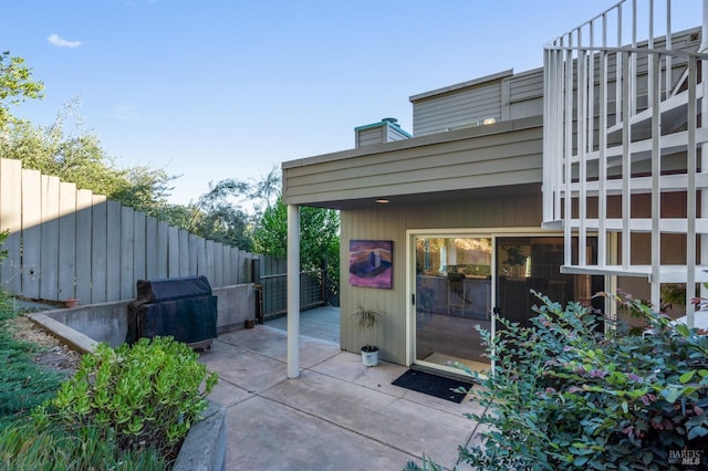
M 41 98 L 44 84 L 32 80 L 32 70 L 24 65 L 24 59 L 10 55 L 10 51 L 0 54 L 0 130 L 13 121 L 10 106 L 27 98 Z

